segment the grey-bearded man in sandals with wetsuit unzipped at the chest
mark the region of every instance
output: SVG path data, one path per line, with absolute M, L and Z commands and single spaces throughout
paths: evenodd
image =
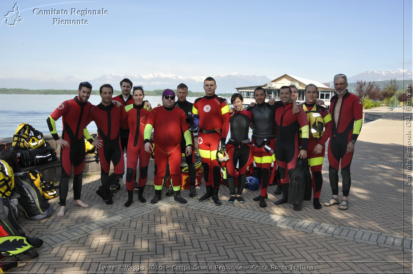
M 363 124 L 363 104 L 357 95 L 348 92 L 348 85 L 344 74 L 334 76 L 334 88 L 337 94 L 330 101 L 332 131 L 329 132 L 331 136 L 328 144 L 328 161 L 330 162 L 328 172 L 333 196 L 324 206 L 339 204 L 338 170 L 341 161 L 343 198 L 339 206 L 340 210 L 349 208 L 350 165 L 353 159 L 354 144 L 356 144 Z

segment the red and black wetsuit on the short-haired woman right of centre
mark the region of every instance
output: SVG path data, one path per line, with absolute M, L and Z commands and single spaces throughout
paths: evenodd
M 230 117 L 231 137 L 228 140 L 226 149 L 230 160 L 227 163 L 226 170 L 231 195 L 235 195 L 235 167 L 237 163 L 239 164 L 237 194 L 241 195 L 245 186 L 248 167 L 254 161 L 252 145 L 248 137 L 250 123 L 252 123 L 251 111 L 235 111 Z

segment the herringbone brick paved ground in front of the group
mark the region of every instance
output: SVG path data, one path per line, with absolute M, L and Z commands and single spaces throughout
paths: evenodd
M 314 210 L 304 201 L 296 212 L 269 190 L 260 208 L 245 191 L 243 204 L 188 198 L 182 205 L 162 196 L 152 205 L 124 208 L 126 187 L 107 206 L 96 196 L 99 177 L 84 178 L 83 209 L 68 203 L 65 217 L 20 217 L 28 236 L 45 241 L 39 257 L 22 257 L 14 273 L 401 273 L 412 272 L 412 188 L 402 180 L 403 113 L 372 111 L 383 118 L 363 125 L 351 166 L 349 210 Z M 328 161 L 320 201 L 331 196 Z M 197 190 L 204 193 L 204 184 Z M 69 189 L 69 199 L 72 198 Z M 188 190 L 183 191 L 188 196 Z M 51 203 L 55 210 L 58 199 Z M 26 259 L 26 260 L 25 260 Z M 152 267 L 151 267 L 152 266 Z M 142 269 L 142 267 L 144 269 Z M 221 267 L 221 268 L 220 268 Z M 227 267 L 227 268 L 225 268 Z M 232 267 L 232 268 L 231 268 Z M 162 268 L 162 269 L 161 269 Z M 242 268 L 242 270 L 241 270 Z M 237 270 L 238 269 L 238 270 Z

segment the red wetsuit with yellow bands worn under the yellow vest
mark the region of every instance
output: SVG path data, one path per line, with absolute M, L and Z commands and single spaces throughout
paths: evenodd
M 319 199 L 321 193 L 321 187 L 323 186 L 323 175 L 321 175 L 321 168 L 323 167 L 324 156 L 325 156 L 325 142 L 327 142 L 330 137 L 331 132 L 331 115 L 330 111 L 325 106 L 316 106 L 316 104 L 300 104 L 304 111 L 307 113 L 307 119 L 309 120 L 309 128 L 311 131 L 312 125 L 310 122 L 310 115 L 313 113 L 318 113 L 323 117 L 325 130 L 323 136 L 316 138 L 311 132 L 309 132 L 309 143 L 307 146 L 307 158 L 309 161 L 311 175 L 313 180 L 313 198 Z M 320 154 L 314 154 L 314 148 L 317 144 L 323 146 L 323 150 Z

